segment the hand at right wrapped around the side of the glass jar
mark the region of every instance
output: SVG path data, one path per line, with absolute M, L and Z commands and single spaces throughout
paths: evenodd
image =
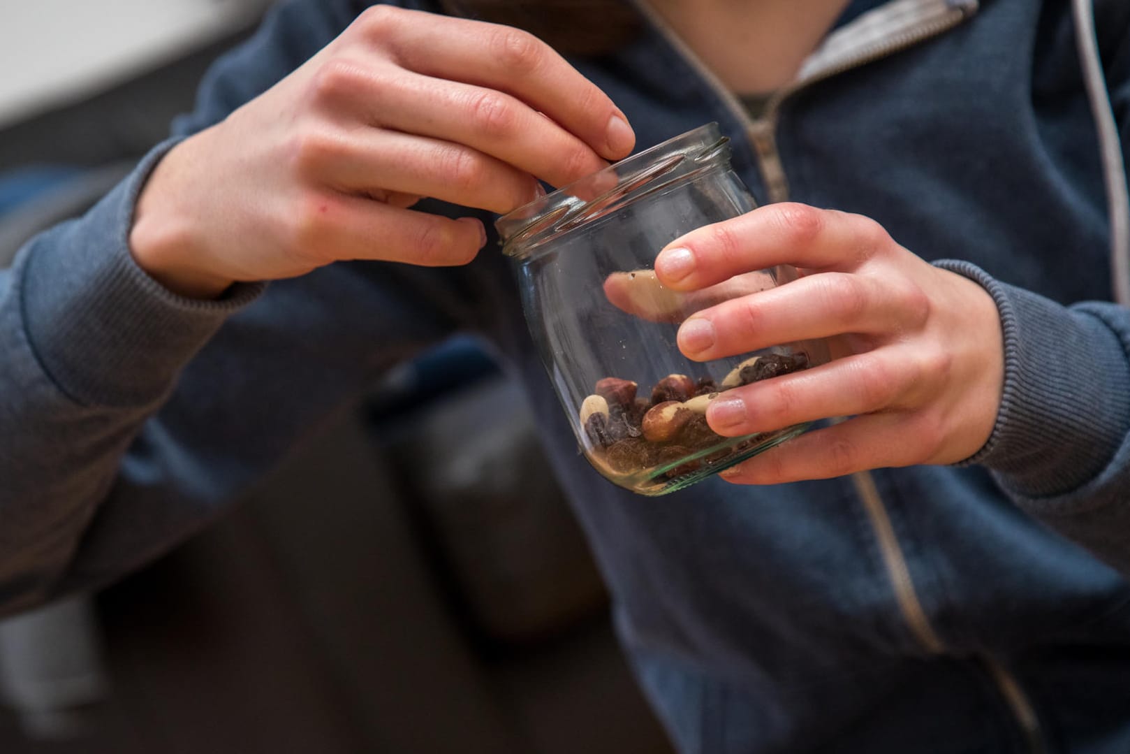
M 660 281 L 693 292 L 736 275 L 793 265 L 801 277 L 704 309 L 679 328 L 696 361 L 824 338 L 832 361 L 734 388 L 706 414 L 738 436 L 851 417 L 727 469 L 776 484 L 863 469 L 953 463 L 989 439 L 1000 406 L 1003 345 L 992 297 L 933 267 L 860 215 L 776 203 L 668 244 Z

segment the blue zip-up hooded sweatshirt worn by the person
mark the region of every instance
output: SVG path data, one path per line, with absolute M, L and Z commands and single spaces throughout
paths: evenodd
M 870 216 L 1000 311 L 1003 400 L 967 462 L 658 500 L 577 454 L 501 254 L 338 263 L 215 302 L 133 263 L 134 201 L 162 156 L 363 5 L 280 5 L 173 138 L 0 272 L 6 612 L 155 557 L 391 365 L 473 331 L 528 389 L 680 751 L 1130 752 L 1130 310 L 1109 252 L 1125 175 L 1093 114 L 1101 99 L 1130 142 L 1130 3 L 1096 3 L 1089 83 L 1105 92 L 1089 96 L 1066 0 L 866 3 L 756 121 L 651 17 L 572 60 L 641 146 L 718 121 L 760 202 Z

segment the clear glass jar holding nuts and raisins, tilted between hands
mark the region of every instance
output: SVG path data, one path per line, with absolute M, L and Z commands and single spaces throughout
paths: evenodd
M 659 251 L 696 227 L 749 211 L 729 140 L 710 123 L 501 217 L 522 306 L 585 458 L 611 482 L 661 495 L 807 428 L 714 434 L 706 406 L 727 390 L 827 361 L 822 341 L 710 362 L 679 350 L 679 324 L 706 306 L 797 277 L 753 270 L 695 293 L 659 284 Z

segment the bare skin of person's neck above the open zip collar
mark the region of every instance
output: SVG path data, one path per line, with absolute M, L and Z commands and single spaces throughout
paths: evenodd
M 736 94 L 792 81 L 849 0 L 646 0 Z

